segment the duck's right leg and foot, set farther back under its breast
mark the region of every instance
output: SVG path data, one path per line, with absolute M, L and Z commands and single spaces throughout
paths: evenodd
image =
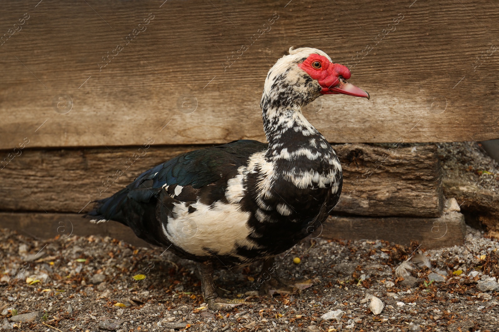
M 302 290 L 313 286 L 310 280 L 303 282 L 291 282 L 281 279 L 277 276 L 279 265 L 275 263 L 274 258 L 268 258 L 263 261 L 260 276 L 257 279 L 262 280 L 259 294 L 260 296 L 272 297 L 274 294 L 299 294 Z

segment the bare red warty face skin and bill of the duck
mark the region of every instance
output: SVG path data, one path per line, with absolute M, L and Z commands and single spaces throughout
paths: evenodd
M 343 94 L 369 99 L 364 90 L 348 83 L 350 70 L 343 65 L 330 62 L 325 56 L 313 53 L 302 63 L 298 64 L 312 79 L 317 80 L 323 95 Z

